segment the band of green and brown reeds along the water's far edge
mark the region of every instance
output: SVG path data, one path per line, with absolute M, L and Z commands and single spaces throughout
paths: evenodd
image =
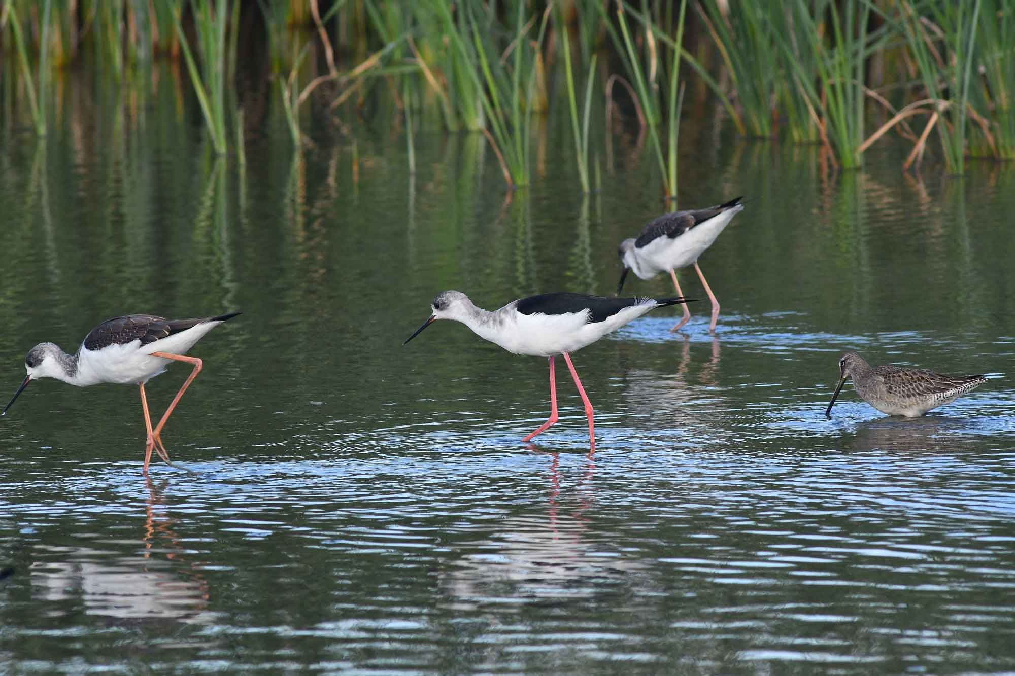
M 482 133 L 505 181 L 522 186 L 532 116 L 560 83 L 582 189 L 594 183 L 590 111 L 602 87 L 608 112 L 630 94 L 672 197 L 686 65 L 696 115 L 712 96 L 738 133 L 818 141 L 842 167 L 892 130 L 913 142 L 906 167 L 929 143 L 953 173 L 970 156 L 1015 158 L 1011 0 L 0 0 L 0 40 L 5 119 L 30 116 L 40 136 L 53 73 L 85 61 L 144 95 L 156 62 L 172 59 L 223 153 L 241 133 L 226 133 L 235 83 L 263 68 L 294 145 L 311 96 L 343 128 L 351 107 L 383 99 L 406 134 L 434 124 Z M 263 64 L 238 63 L 252 46 L 266 47 Z M 888 122 L 869 134 L 869 113 L 882 109 Z

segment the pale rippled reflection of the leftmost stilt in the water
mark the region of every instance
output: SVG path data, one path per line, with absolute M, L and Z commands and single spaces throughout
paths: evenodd
M 133 621 L 215 620 L 217 613 L 208 610 L 208 583 L 173 530 L 165 483 L 156 487 L 146 476 L 145 487 L 142 552 L 136 553 L 136 541 L 122 539 L 101 548 L 39 546 L 29 571 L 41 600 L 79 599 L 89 615 Z

